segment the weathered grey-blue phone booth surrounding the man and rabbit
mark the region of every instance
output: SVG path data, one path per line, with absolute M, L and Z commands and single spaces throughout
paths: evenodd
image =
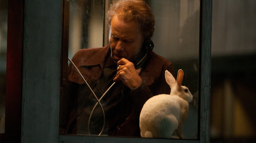
M 87 1 L 88 6 L 80 1 L 68 0 L 9 1 L 5 142 L 209 142 L 211 0 L 200 1 L 193 5 L 195 9 L 192 13 L 195 13 L 195 17 L 198 18 L 198 23 L 196 23 L 198 26 L 198 37 L 196 37 L 198 43 L 195 46 L 196 50 L 193 50 L 196 52 L 189 52 L 189 54 L 192 53 L 197 56 L 192 55 L 196 59 L 189 59 L 191 63 L 186 63 L 192 65 L 193 68 L 196 67 L 197 70 L 186 76 L 191 77 L 191 81 L 196 81 L 193 84 L 190 81 L 187 83 L 192 85 L 190 88 L 194 89 L 192 90 L 194 95 L 198 96 L 198 100 L 195 101 L 197 108 L 195 107 L 194 111 L 191 110 L 190 115 L 188 115 L 193 121 L 188 121 L 185 125 L 189 129 L 184 133 L 188 136 L 187 138 L 66 135 L 64 133 L 65 127 L 62 125 L 65 124 L 64 117 L 68 116 L 64 112 L 68 110 L 68 101 L 65 97 L 68 86 L 68 57 L 74 56 L 77 51 L 77 45 L 75 45 L 77 43 L 80 48 L 97 47 L 98 45 L 95 44 L 98 43 L 101 46 L 108 44 L 107 25 L 102 15 L 105 16 L 105 11 L 114 1 Z M 186 10 L 184 1 L 148 0 L 146 2 L 155 12 L 156 22 L 160 21 L 159 25 L 156 24 L 156 28 L 161 29 L 165 23 L 176 24 L 180 31 L 174 29 L 172 33 L 166 32 L 167 37 L 175 32 L 178 35 L 186 35 L 182 34 L 182 31 L 187 32 L 184 27 L 187 27 L 186 24 L 191 21 L 188 20 L 189 16 L 184 18 L 183 15 L 189 14 L 191 11 Z M 162 13 L 157 7 L 160 3 L 162 6 L 178 4 L 179 11 L 176 18 L 180 21 L 172 21 L 172 18 L 175 17 L 175 15 L 171 15 L 172 13 L 170 13 L 172 16 L 170 19 L 162 19 Z M 85 15 L 82 21 L 79 21 L 81 17 L 76 16 L 85 12 L 80 11 L 79 13 L 75 10 L 81 10 L 79 6 L 82 4 L 83 8 L 91 7 L 90 12 L 94 15 Z M 96 7 L 97 4 L 100 6 Z M 164 8 L 166 11 L 177 11 L 175 8 Z M 96 14 L 96 11 L 100 11 L 99 15 Z M 102 19 L 96 24 L 102 23 L 102 28 L 94 27 L 96 24 L 93 22 L 97 20 L 97 16 Z M 86 18 L 91 20 L 87 21 Z M 90 24 L 91 22 L 92 24 Z M 86 25 L 91 27 L 88 28 Z M 165 25 L 170 28 L 168 24 Z M 100 37 L 95 36 L 98 33 L 97 30 L 101 31 Z M 152 38 L 155 47 L 160 44 L 163 44 L 162 47 L 168 47 L 170 44 L 168 42 L 186 47 L 186 43 L 184 43 L 187 40 L 186 37 L 173 35 L 170 38 L 173 41 L 168 41 L 164 39 L 166 35 L 162 36 L 160 33 L 165 31 L 161 30 L 156 31 L 157 36 Z M 76 37 L 79 35 L 85 38 L 82 37 L 82 40 L 79 41 L 78 39 L 77 41 Z M 96 42 L 90 40 L 94 36 L 100 40 Z M 162 42 L 161 39 L 166 42 Z M 156 50 L 155 52 L 158 52 L 159 55 L 166 56 L 166 58 L 170 54 L 168 49 L 161 49 L 161 47 L 153 50 Z M 173 50 L 175 51 L 175 48 Z M 183 64 L 184 60 L 179 59 L 180 57 L 188 57 L 188 55 L 183 55 L 184 51 L 189 50 L 184 48 L 174 53 L 172 62 L 176 63 L 177 68 L 189 71 L 190 68 Z M 194 76 L 196 79 L 193 79 Z

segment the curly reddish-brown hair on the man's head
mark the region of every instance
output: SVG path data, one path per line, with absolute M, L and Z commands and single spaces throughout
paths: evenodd
M 152 37 L 154 34 L 155 16 L 151 8 L 143 0 L 119 0 L 113 3 L 106 15 L 107 24 L 110 27 L 114 16 L 125 22 L 135 21 L 144 37 Z

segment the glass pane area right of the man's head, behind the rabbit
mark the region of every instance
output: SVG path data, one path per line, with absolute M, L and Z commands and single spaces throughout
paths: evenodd
M 197 139 L 200 1 L 147 1 L 156 20 L 153 51 L 171 61 L 176 72 L 179 69 L 184 71 L 182 83 L 193 95 L 183 135 L 187 139 Z

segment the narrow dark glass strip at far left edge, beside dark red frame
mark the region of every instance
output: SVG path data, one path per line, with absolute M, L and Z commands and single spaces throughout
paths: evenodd
M 0 6 L 0 134 L 5 133 L 7 2 L 1 1 Z

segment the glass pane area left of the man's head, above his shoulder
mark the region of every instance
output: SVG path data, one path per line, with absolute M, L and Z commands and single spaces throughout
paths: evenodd
M 102 47 L 104 0 L 70 0 L 69 57 L 83 48 Z

